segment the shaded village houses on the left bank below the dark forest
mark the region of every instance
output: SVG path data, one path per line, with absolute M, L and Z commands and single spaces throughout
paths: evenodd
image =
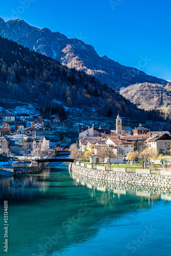
M 42 114 L 3 114 L 0 122 L 0 154 L 10 158 L 44 157 L 50 151 L 50 143 L 44 135 L 39 136 L 36 132 L 45 132 L 50 129 L 50 123 L 59 122 L 59 115 L 45 120 Z

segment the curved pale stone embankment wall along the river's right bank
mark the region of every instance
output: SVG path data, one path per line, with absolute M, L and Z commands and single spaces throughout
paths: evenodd
M 137 174 L 114 172 L 108 170 L 96 170 L 82 167 L 80 165 L 72 164 L 72 172 L 87 177 L 93 180 L 110 181 L 110 182 L 124 182 L 130 184 L 142 184 L 144 186 L 162 186 L 171 188 L 171 176 L 156 175 L 156 174 Z

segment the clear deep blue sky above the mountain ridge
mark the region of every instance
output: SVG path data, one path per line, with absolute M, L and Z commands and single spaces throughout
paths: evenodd
M 170 0 L 8 0 L 0 16 L 77 37 L 100 56 L 171 80 L 170 13 Z

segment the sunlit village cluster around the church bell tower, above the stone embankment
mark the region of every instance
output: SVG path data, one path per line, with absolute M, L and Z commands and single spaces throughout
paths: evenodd
M 135 129 L 122 125 L 122 118 L 116 118 L 116 130 L 101 127 L 79 126 L 79 152 L 77 158 L 90 159 L 91 164 L 123 164 L 124 161 L 138 161 L 144 168 L 147 161 L 163 164 L 170 154 L 171 136 L 168 131 L 149 131 L 141 124 Z M 75 154 L 76 155 L 76 154 Z M 73 154 L 74 156 L 74 154 Z M 161 159 L 163 158 L 163 159 Z M 148 162 L 149 164 L 149 162 Z

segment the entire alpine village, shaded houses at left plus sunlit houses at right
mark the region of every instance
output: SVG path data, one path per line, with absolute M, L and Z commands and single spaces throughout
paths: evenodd
M 1 158 L 18 159 L 25 161 L 48 157 L 60 144 L 55 145 L 46 137 L 46 131 L 51 124 L 59 124 L 59 115 L 45 119 L 42 114 L 2 114 L 0 122 L 0 154 Z M 104 125 L 103 125 L 104 126 Z M 39 132 L 41 131 L 41 135 Z M 61 130 L 62 131 L 62 130 Z M 69 133 L 69 132 L 68 132 Z M 78 139 L 78 140 L 77 140 Z M 130 164 L 140 160 L 145 167 L 146 160 L 151 158 L 155 163 L 161 163 L 159 156 L 169 154 L 171 136 L 168 131 L 150 131 L 139 127 L 131 129 L 129 125 L 122 125 L 122 117 L 119 113 L 116 117 L 116 129 L 110 127 L 78 125 L 78 137 L 76 144 L 72 144 L 71 156 L 80 161 L 91 164 L 123 164 L 130 160 Z M 76 149 L 74 150 L 74 146 Z M 145 152 L 145 151 L 146 152 Z M 137 155 L 145 152 L 143 159 Z

